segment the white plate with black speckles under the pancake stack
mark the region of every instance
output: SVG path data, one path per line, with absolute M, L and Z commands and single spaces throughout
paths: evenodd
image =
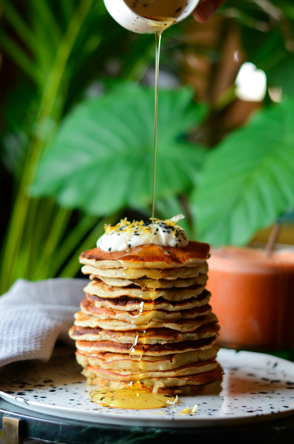
M 92 403 L 73 351 L 56 349 L 48 363 L 23 362 L 0 372 L 0 396 L 12 404 L 62 418 L 103 424 L 203 427 L 277 419 L 294 413 L 294 364 L 262 353 L 220 350 L 225 375 L 215 396 L 180 396 L 175 407 L 123 410 Z M 195 414 L 181 414 L 198 404 Z

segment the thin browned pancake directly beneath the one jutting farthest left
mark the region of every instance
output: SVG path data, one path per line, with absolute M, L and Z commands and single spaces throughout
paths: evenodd
M 92 353 L 111 352 L 127 353 L 132 355 L 145 356 L 164 356 L 174 353 L 183 353 L 196 350 L 209 349 L 216 340 L 216 336 L 198 339 L 197 341 L 173 342 L 171 344 L 122 344 L 114 341 L 76 341 L 76 348 L 82 352 Z

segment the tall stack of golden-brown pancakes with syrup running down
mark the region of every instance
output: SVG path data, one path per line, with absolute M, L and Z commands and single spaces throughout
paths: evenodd
M 111 389 L 140 382 L 149 392 L 217 391 L 222 368 L 211 312 L 207 244 L 154 244 L 80 256 L 90 275 L 70 337 L 87 383 Z

